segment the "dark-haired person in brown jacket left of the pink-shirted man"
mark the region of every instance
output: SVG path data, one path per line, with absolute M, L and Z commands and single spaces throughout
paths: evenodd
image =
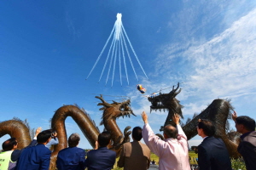
M 140 140 L 143 138 L 142 127 L 134 127 L 131 133 L 133 142 L 123 145 L 118 166 L 124 170 L 147 170 L 150 165 L 150 150 Z

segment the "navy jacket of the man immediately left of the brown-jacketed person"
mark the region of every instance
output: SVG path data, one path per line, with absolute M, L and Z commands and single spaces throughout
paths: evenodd
M 87 153 L 86 167 L 88 170 L 110 170 L 115 162 L 116 153 L 107 147 L 90 150 Z

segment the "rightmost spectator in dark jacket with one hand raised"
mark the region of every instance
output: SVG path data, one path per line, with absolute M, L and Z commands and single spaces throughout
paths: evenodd
M 236 111 L 232 114 L 236 123 L 236 131 L 241 133 L 241 142 L 237 151 L 243 157 L 247 170 L 256 168 L 256 132 L 255 121 L 248 116 L 237 116 Z

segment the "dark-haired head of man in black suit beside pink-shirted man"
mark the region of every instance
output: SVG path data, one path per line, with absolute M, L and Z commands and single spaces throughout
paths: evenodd
M 213 136 L 215 134 L 215 126 L 211 121 L 199 119 L 197 124 L 197 133 L 202 138 L 206 136 Z

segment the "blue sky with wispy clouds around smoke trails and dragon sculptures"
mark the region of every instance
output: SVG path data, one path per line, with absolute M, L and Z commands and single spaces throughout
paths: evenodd
M 137 82 L 128 67 L 125 79 L 113 88 L 105 77 L 97 83 L 106 55 L 85 81 L 102 51 L 116 14 L 149 80 L 136 62 Z M 256 2 L 241 1 L 2 1 L 0 6 L 1 121 L 14 116 L 27 119 L 31 127 L 49 128 L 49 119 L 62 105 L 77 104 L 99 125 L 102 111 L 99 94 L 108 99 L 129 96 L 137 116 L 121 118 L 126 126 L 143 126 L 141 112 L 149 113 L 146 94 L 183 82 L 177 99 L 183 115 L 191 117 L 213 99 L 231 99 L 239 115 L 255 116 L 256 103 Z M 165 93 L 171 90 L 166 89 Z M 149 123 L 155 133 L 166 112 L 152 112 Z M 234 123 L 231 126 L 235 128 Z M 72 118 L 67 134 L 80 133 L 80 147 L 90 148 Z M 100 126 L 102 130 L 103 127 Z M 9 139 L 3 136 L 0 143 Z M 200 144 L 195 137 L 189 144 Z

